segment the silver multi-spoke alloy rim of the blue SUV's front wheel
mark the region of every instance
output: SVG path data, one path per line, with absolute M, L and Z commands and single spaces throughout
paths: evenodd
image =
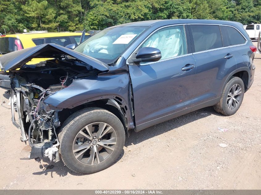
M 74 157 L 84 165 L 98 165 L 111 156 L 116 144 L 116 132 L 109 124 L 88 124 L 74 138 Z

